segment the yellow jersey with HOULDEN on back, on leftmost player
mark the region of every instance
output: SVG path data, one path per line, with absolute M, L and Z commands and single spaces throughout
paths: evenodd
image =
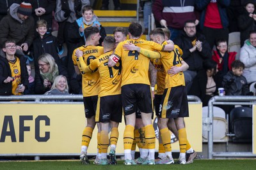
M 81 66 L 79 64 L 79 59 L 76 56 L 76 50 L 79 49 L 83 52 L 83 59 L 85 64 L 88 66 L 92 60 L 97 59 L 102 53 L 104 53 L 102 46 L 80 46 L 79 48 L 76 48 L 72 55 L 72 60 L 74 63 L 74 66 L 77 66 L 81 70 Z M 83 75 L 82 79 L 82 89 L 83 89 L 83 96 L 89 97 L 89 96 L 97 96 L 99 94 L 99 71 L 96 69 L 92 73 L 86 73 L 84 74 L 83 71 L 81 71 L 81 74 Z

